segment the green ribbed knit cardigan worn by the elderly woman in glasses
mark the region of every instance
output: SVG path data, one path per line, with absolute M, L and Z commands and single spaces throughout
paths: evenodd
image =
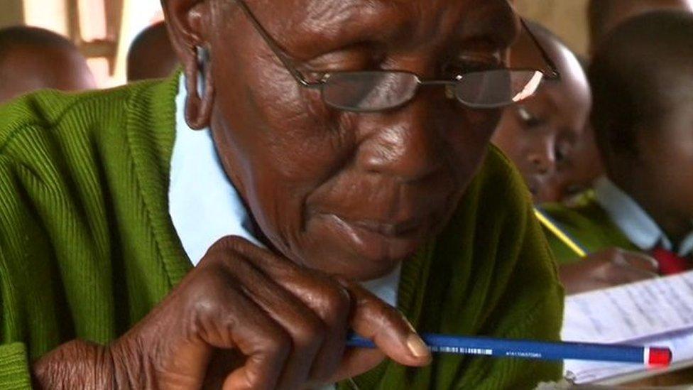
M 168 215 L 177 88 L 0 107 L 0 389 L 29 387 L 31 362 L 62 342 L 122 335 L 190 270 Z M 562 293 L 522 182 L 492 149 L 449 227 L 405 262 L 398 304 L 420 331 L 557 340 Z M 518 389 L 558 377 L 555 363 L 438 355 L 354 380 Z

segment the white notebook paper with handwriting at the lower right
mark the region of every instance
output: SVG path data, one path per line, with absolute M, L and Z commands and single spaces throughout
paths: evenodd
M 561 335 L 565 341 L 670 347 L 673 364 L 693 361 L 693 271 L 568 296 Z M 579 384 L 648 370 L 578 360 L 566 360 L 564 368 Z

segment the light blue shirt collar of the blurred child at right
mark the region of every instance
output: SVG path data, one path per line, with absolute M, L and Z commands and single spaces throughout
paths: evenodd
M 636 247 L 649 251 L 661 244 L 665 249 L 672 250 L 671 240 L 662 232 L 657 222 L 609 178 L 603 177 L 596 181 L 594 195 L 613 223 Z M 693 232 L 681 242 L 678 255 L 688 256 L 692 251 Z

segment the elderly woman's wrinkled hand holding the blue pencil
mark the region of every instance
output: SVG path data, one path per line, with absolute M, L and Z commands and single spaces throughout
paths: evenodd
M 379 350 L 346 350 L 349 328 Z M 33 374 L 45 388 L 299 389 L 361 374 L 385 355 L 430 362 L 403 316 L 360 286 L 227 237 L 111 346 L 67 343 Z

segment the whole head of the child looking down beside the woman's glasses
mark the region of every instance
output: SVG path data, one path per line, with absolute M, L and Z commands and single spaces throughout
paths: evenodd
M 558 201 L 589 187 L 596 177 L 579 171 L 582 167 L 574 160 L 586 135 L 591 96 L 574 53 L 546 28 L 536 23 L 530 28 L 562 77 L 546 81 L 535 96 L 506 109 L 493 143 L 519 168 L 535 203 Z M 520 36 L 511 49 L 511 66 L 523 67 L 536 55 L 531 38 Z

